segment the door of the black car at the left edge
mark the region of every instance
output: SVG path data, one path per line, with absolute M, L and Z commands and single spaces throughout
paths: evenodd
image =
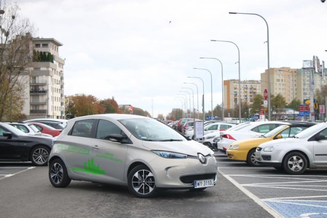
M 0 159 L 21 160 L 21 155 L 26 153 L 24 147 L 20 147 L 19 140 L 15 135 L 8 138 L 4 136 L 5 132 L 8 132 L 8 130 L 0 127 Z

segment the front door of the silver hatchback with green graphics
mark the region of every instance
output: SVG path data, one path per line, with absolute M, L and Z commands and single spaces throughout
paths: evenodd
M 100 119 L 90 152 L 94 165 L 99 170 L 99 173 L 93 176 L 99 179 L 123 181 L 128 143 L 109 140 L 111 134 L 120 134 L 128 138 L 117 125 Z

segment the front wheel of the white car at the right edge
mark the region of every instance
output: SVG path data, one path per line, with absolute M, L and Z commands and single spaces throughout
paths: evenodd
M 284 170 L 293 175 L 299 175 L 306 171 L 308 166 L 307 158 L 299 152 L 291 152 L 283 159 Z

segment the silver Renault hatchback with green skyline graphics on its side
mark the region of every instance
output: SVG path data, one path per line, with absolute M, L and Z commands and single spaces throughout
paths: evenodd
M 71 119 L 54 140 L 49 178 L 128 186 L 137 197 L 158 188 L 203 190 L 217 180 L 214 152 L 155 119 L 100 114 Z

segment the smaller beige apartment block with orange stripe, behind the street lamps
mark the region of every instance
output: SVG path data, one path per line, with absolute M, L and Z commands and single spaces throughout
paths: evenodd
M 224 109 L 234 109 L 239 105 L 239 80 L 224 80 Z M 241 81 L 241 101 L 253 104 L 253 98 L 261 93 L 259 80 Z

